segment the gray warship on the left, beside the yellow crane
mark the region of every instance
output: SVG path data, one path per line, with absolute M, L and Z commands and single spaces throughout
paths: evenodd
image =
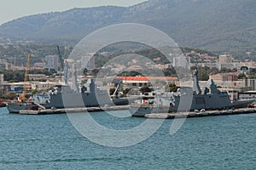
M 56 86 L 44 94 L 34 94 L 29 103 L 15 103 L 7 105 L 10 113 L 20 110 L 62 109 L 79 107 L 99 107 L 105 105 L 129 105 L 134 99 L 110 98 L 106 91 L 96 88 L 95 80 L 89 79 L 85 86 L 78 91 L 67 85 Z

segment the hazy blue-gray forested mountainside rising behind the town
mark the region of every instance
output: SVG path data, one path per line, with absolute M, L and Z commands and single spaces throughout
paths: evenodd
M 205 48 L 243 57 L 256 51 L 254 0 L 151 0 L 129 8 L 73 8 L 37 14 L 0 26 L 2 37 L 75 43 L 114 23 L 136 22 L 166 32 L 181 47 Z

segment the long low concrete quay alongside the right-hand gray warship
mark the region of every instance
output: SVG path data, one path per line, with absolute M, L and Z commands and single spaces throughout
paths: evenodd
M 256 113 L 256 109 L 237 109 L 229 111 L 205 111 L 205 112 L 178 112 L 178 113 L 150 113 L 146 114 L 146 118 L 151 119 L 177 119 L 177 118 L 193 118 L 204 116 L 228 116 Z

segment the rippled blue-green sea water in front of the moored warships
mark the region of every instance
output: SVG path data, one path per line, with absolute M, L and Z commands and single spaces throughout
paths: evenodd
M 104 112 L 93 117 L 109 127 L 144 121 Z M 256 169 L 256 114 L 191 118 L 170 135 L 172 121 L 139 144 L 111 148 L 84 138 L 67 115 L 15 115 L 1 108 L 0 169 Z

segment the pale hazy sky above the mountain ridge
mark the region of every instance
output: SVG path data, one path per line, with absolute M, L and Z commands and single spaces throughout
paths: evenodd
M 0 0 L 0 25 L 31 14 L 102 5 L 131 6 L 146 0 Z

